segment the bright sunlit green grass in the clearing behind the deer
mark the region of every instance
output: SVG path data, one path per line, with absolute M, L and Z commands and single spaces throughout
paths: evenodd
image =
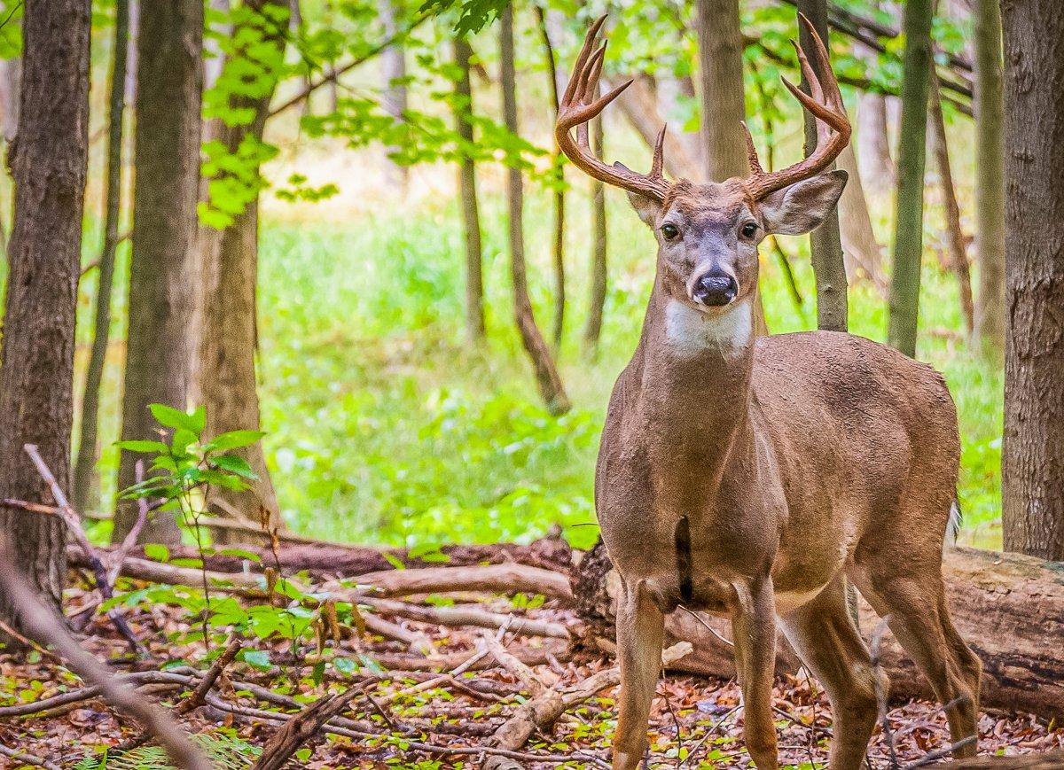
M 579 191 L 579 190 L 578 190 Z M 463 257 L 454 203 L 380 202 L 347 221 L 267 216 L 262 229 L 261 396 L 266 448 L 285 519 L 335 540 L 416 543 L 529 540 L 561 524 L 579 546 L 597 530 L 595 456 L 613 381 L 635 346 L 654 247 L 619 194 L 610 203 L 610 292 L 597 357 L 582 349 L 586 317 L 587 202 L 569 210 L 570 297 L 562 374 L 573 409 L 558 419 L 538 401 L 510 311 L 503 202 L 482 196 L 489 339 L 463 341 Z M 283 210 L 282 210 L 283 211 Z M 553 298 L 550 212 L 533 191 L 526 213 L 530 283 L 542 322 Z M 929 224 L 929 236 L 933 223 Z M 775 257 L 763 258 L 774 332 L 815 324 L 805 238 L 784 240 L 805 306 L 794 306 Z M 80 301 L 79 361 L 90 322 L 93 280 Z M 882 339 L 885 303 L 868 285 L 851 291 L 851 330 Z M 124 290 L 113 338 L 123 334 Z M 919 357 L 942 370 L 957 400 L 964 441 L 965 540 L 999 543 L 1001 388 L 954 335 L 955 284 L 925 260 Z M 112 347 L 101 437 L 118 431 L 121 342 Z M 81 367 L 79 367 L 79 371 Z M 80 392 L 81 378 L 78 385 Z M 115 453 L 101 461 L 102 506 L 113 499 Z

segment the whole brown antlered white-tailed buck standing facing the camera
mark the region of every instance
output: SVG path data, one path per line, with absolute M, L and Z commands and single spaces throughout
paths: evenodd
M 809 157 L 765 172 L 747 133 L 749 178 L 670 183 L 664 130 L 649 174 L 588 148 L 587 121 L 628 85 L 595 99 L 603 21 L 587 33 L 555 136 L 578 167 L 628 190 L 658 239 L 643 333 L 610 399 L 595 479 L 602 539 L 624 584 L 613 767 L 643 756 L 664 616 L 683 605 L 731 618 L 759 770 L 777 767 L 777 619 L 831 700 L 831 767 L 859 768 L 877 673 L 847 612 L 847 577 L 948 704 L 953 740 L 975 735 L 981 665 L 953 629 L 942 580 L 960 457 L 945 382 L 849 334 L 752 333 L 758 244 L 818 227 L 846 184 L 844 171 L 828 170 L 850 124 L 824 44 L 803 18 L 824 80 L 798 48 L 811 96 L 784 81 L 817 119 Z M 958 753 L 975 751 L 968 742 Z

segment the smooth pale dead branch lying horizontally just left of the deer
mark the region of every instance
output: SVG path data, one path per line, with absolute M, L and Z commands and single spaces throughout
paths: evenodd
M 372 586 L 381 597 L 412 593 L 491 591 L 494 593 L 542 593 L 572 601 L 568 575 L 522 564 L 494 564 L 484 567 L 427 567 L 417 570 L 387 570 L 359 576 L 360 584 Z

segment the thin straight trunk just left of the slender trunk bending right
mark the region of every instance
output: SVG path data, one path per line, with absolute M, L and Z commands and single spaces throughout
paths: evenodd
M 459 80 L 454 84 L 454 124 L 459 136 L 472 146 L 472 87 L 469 83 L 469 60 L 472 48 L 464 37 L 454 39 L 454 64 Z M 477 205 L 477 164 L 468 154 L 459 162 L 459 192 L 462 196 L 462 223 L 466 252 L 466 339 L 472 345 L 484 340 L 484 271 L 480 242 L 480 208 Z

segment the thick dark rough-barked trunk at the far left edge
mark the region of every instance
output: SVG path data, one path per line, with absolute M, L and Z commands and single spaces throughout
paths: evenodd
M 29 0 L 22 18 L 18 134 L 9 154 L 15 224 L 0 347 L 0 499 L 51 502 L 23 443 L 37 445 L 63 487 L 70 481 L 89 16 L 88 0 Z M 13 566 L 56 610 L 66 573 L 64 535 L 57 516 L 0 505 L 0 537 Z M 24 627 L 4 593 L 0 620 L 17 632 Z

